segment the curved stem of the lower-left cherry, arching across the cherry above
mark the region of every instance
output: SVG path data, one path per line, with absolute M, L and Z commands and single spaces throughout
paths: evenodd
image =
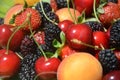
M 7 50 L 7 51 L 6 51 L 6 54 L 9 53 L 10 42 L 11 42 L 12 38 L 14 37 L 15 33 L 16 33 L 18 30 L 20 30 L 21 28 L 23 28 L 23 27 L 26 25 L 26 22 L 28 22 L 28 20 L 29 20 L 29 15 L 27 15 L 27 16 L 28 16 L 28 17 L 27 17 L 26 20 L 23 22 L 23 24 L 20 25 L 20 26 L 18 26 L 18 27 L 16 28 L 16 30 L 11 34 L 10 38 L 8 39 L 7 47 L 6 47 L 6 50 Z

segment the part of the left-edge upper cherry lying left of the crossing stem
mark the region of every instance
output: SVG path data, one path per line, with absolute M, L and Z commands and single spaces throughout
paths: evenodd
M 10 30 L 10 25 L 0 25 L 0 47 L 5 48 L 8 42 L 9 37 L 12 34 L 12 31 Z

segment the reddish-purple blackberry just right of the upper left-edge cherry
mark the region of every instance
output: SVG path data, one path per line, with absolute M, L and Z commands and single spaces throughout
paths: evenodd
M 29 35 L 26 35 L 21 42 L 20 51 L 23 56 L 28 53 L 35 53 L 37 49 L 37 45 L 35 44 L 34 40 L 30 38 Z

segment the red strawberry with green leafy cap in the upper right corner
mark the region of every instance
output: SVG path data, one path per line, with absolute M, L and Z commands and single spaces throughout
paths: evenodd
M 120 18 L 120 9 L 116 3 L 108 2 L 103 6 L 103 13 L 100 14 L 100 21 L 108 28 L 111 22 Z

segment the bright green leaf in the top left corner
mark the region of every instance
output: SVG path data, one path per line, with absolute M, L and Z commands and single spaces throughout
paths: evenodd
M 1 0 L 0 1 L 0 17 L 4 18 L 8 9 L 14 5 L 13 0 Z

